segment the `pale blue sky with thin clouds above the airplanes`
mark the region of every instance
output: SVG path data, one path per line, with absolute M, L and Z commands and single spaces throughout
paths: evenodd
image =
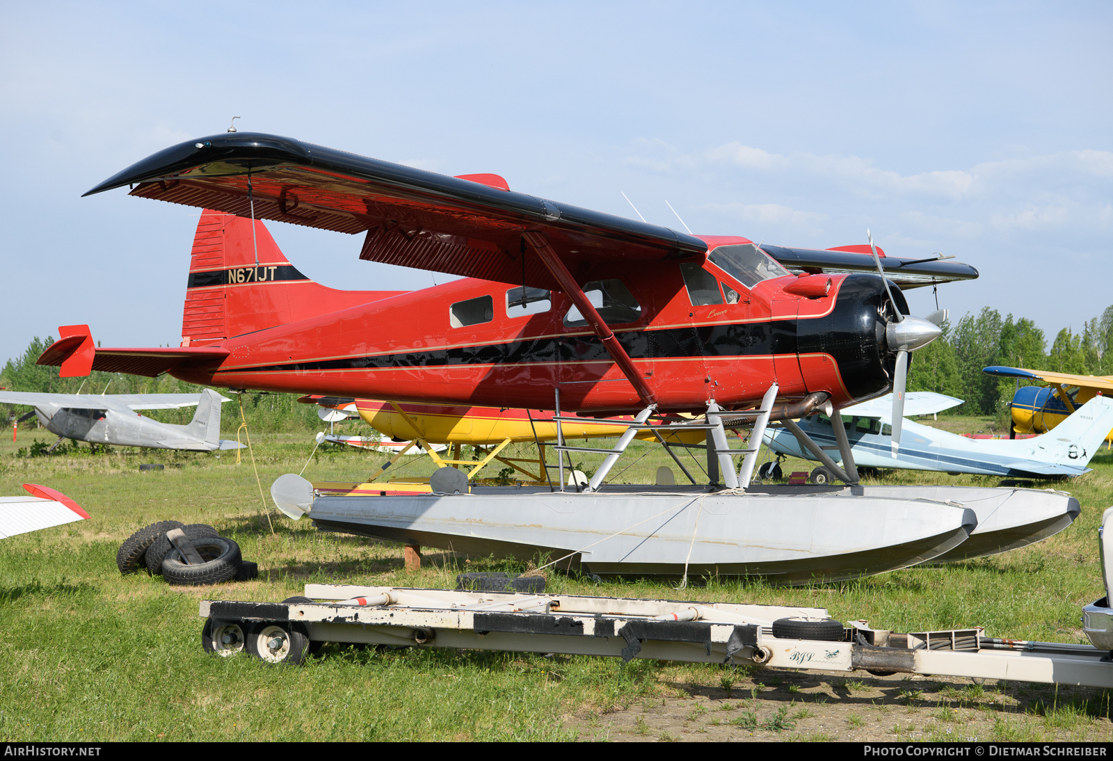
M 1113 304 L 1109 3 L 0 2 L 0 362 L 87 323 L 176 345 L 197 211 L 80 195 L 175 142 L 287 135 L 696 233 L 955 255 L 958 316 Z M 420 288 L 269 225 L 338 288 Z M 929 290 L 909 293 L 917 314 Z

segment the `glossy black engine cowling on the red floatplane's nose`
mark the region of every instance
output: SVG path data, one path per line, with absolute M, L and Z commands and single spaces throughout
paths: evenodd
M 907 315 L 904 294 L 892 281 L 889 289 L 900 314 Z M 800 354 L 834 357 L 855 399 L 880 396 L 892 388 L 896 363 L 885 340 L 885 326 L 892 318 L 893 305 L 879 275 L 847 275 L 830 314 L 797 320 L 797 347 Z

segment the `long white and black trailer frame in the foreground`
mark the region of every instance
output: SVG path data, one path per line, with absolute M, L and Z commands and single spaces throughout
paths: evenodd
M 1113 688 L 1110 651 L 1092 645 L 999 640 L 981 629 L 898 634 L 864 621 L 837 641 L 774 635 L 778 620 L 829 622 L 815 607 L 307 584 L 304 599 L 284 603 L 201 601 L 200 615 L 206 650 L 230 655 L 246 645 L 275 663 L 338 642 Z

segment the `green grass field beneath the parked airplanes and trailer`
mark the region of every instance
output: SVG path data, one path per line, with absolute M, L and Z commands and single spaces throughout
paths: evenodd
M 982 418 L 940 418 L 948 429 L 984 429 Z M 247 452 L 188 454 L 117 451 L 17 457 L 0 444 L 0 494 L 24 482 L 75 498 L 91 521 L 0 542 L 0 739 L 96 740 L 571 740 L 571 739 L 1110 739 L 1109 695 L 1095 690 L 841 676 L 712 665 L 472 651 L 375 652 L 326 648 L 302 668 L 269 668 L 247 656 L 214 659 L 199 643 L 201 599 L 278 601 L 306 582 L 453 586 L 461 570 L 523 570 L 495 559 L 429 551 L 407 572 L 402 547 L 317 532 L 264 511 Z M 308 436 L 254 443 L 264 493 L 297 473 Z M 670 464 L 636 444 L 620 481 L 652 483 Z M 305 475 L 347 480 L 383 455 L 318 449 Z M 637 462 L 634 462 L 637 461 Z M 165 463 L 139 472 L 140 463 Z M 621 468 L 632 463 L 624 473 Z M 585 457 L 588 470 L 592 467 Z M 797 461 L 792 470 L 814 465 Z M 595 584 L 550 575 L 550 589 L 595 595 L 826 606 L 843 621 L 868 619 L 900 631 L 983 625 L 991 635 L 1080 642 L 1082 605 L 1102 596 L 1096 552 L 1101 513 L 1113 504 L 1113 454 L 1066 488 L 1082 503 L 1068 530 L 996 557 L 871 579 L 778 589 L 706 582 Z M 397 475 L 431 471 L 415 459 Z M 679 475 L 679 474 L 678 474 Z M 900 483 L 995 485 L 978 476 L 910 472 Z M 268 497 L 269 500 L 269 497 Z M 268 516 L 269 515 L 269 516 Z M 260 577 L 213 589 L 121 577 L 115 556 L 137 528 L 165 518 L 209 523 L 259 563 Z M 679 706 L 679 708 L 677 708 Z M 701 708 L 702 706 L 702 708 Z M 849 706 L 849 708 L 848 708 Z M 676 709 L 676 710 L 673 710 Z

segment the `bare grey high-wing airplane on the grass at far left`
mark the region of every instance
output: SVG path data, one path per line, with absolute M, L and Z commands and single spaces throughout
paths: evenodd
M 238 442 L 220 438 L 220 405 L 230 399 L 206 388 L 200 394 L 39 394 L 0 392 L 0 404 L 35 407 L 19 419 L 36 415 L 52 434 L 93 444 L 147 446 L 156 449 L 237 449 Z M 137 409 L 175 409 L 197 405 L 187 425 L 159 423 Z

